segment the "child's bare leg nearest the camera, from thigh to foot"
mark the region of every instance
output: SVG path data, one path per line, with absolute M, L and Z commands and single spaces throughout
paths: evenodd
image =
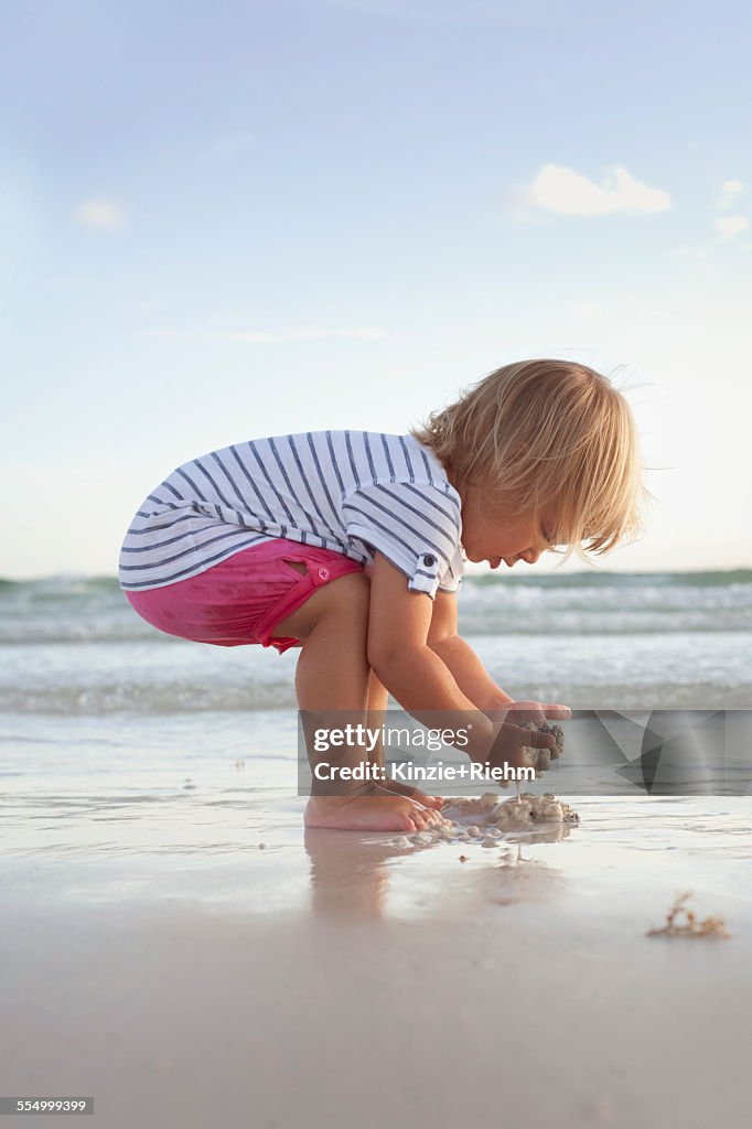
M 301 711 L 327 714 L 348 711 L 364 723 L 369 704 L 371 672 L 366 639 L 368 631 L 369 583 L 364 574 L 350 574 L 332 580 L 316 592 L 296 612 L 274 627 L 274 637 L 301 640 L 296 671 L 296 692 Z M 373 684 L 371 702 L 386 707 L 384 688 Z M 321 758 L 309 747 L 312 764 Z M 353 763 L 366 761 L 367 752 L 353 750 Z M 312 796 L 306 808 L 306 824 L 346 830 L 422 830 L 440 817 L 406 796 L 371 788 L 357 795 Z

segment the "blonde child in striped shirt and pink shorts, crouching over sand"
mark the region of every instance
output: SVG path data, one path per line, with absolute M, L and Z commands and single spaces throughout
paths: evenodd
M 607 552 L 636 532 L 640 491 L 626 400 L 583 365 L 521 361 L 408 435 L 278 436 L 177 467 L 133 518 L 121 585 L 168 634 L 299 646 L 304 717 L 365 719 L 391 693 L 431 725 L 463 725 L 473 760 L 519 764 L 523 745 L 553 737 L 513 725 L 511 708 L 535 721 L 569 710 L 514 703 L 457 634 L 463 553 L 496 569 L 557 545 Z M 396 784 L 313 790 L 309 826 L 441 821 L 440 799 Z

